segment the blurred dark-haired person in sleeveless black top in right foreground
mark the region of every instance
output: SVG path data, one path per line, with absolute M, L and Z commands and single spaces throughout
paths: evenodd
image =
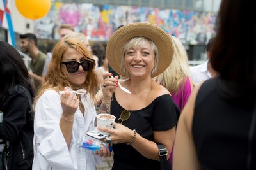
M 180 115 L 174 170 L 256 169 L 255 18 L 244 26 L 254 11 L 253 1 L 221 1 L 210 48 L 218 75 L 196 87 Z

